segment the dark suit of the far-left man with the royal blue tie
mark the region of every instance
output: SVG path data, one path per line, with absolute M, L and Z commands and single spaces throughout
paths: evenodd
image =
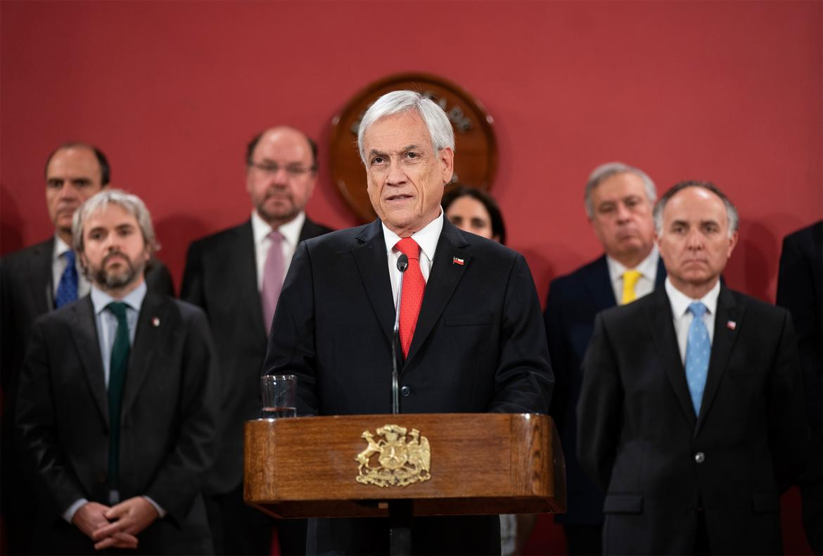
M 52 257 L 54 238 L 5 255 L 0 260 L 0 379 L 2 379 L 2 516 L 7 519 L 9 549 L 12 554 L 26 552 L 27 522 L 35 508 L 26 490 L 27 470 L 20 467 L 14 445 L 15 395 L 31 325 L 40 315 L 54 308 Z M 165 265 L 152 259 L 146 270 L 149 289 L 174 295 L 171 276 Z M 21 521 L 17 521 L 20 519 Z

